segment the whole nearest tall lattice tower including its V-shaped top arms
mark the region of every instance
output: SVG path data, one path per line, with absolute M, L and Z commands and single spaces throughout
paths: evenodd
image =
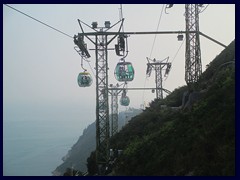
M 82 33 L 78 33 L 78 38 L 82 40 L 83 37 L 88 38 L 95 45 L 95 69 L 96 69 L 96 163 L 98 165 L 99 174 L 104 173 L 104 166 L 109 161 L 109 104 L 108 104 L 108 45 L 119 35 L 123 20 L 115 23 L 113 26 L 121 22 L 118 32 L 109 34 L 107 32 L 113 26 L 105 27 L 90 27 L 86 23 L 78 20 Z M 106 23 L 106 22 L 105 22 Z M 85 33 L 82 27 L 85 24 L 95 32 L 91 34 Z M 108 22 L 109 24 L 109 22 Z M 97 30 L 99 29 L 99 30 Z M 94 36 L 95 41 L 89 36 Z M 109 36 L 113 36 L 109 38 Z M 108 39 L 109 38 L 109 39 Z M 83 46 L 79 46 L 83 47 Z M 81 49 L 81 48 L 80 48 Z M 83 49 L 84 54 L 87 54 Z

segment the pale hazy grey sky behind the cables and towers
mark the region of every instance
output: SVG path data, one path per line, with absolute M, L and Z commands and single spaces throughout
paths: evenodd
M 91 25 L 97 21 L 112 24 L 119 20 L 119 4 L 12 4 L 14 8 L 49 24 L 70 36 L 80 31 L 77 19 Z M 156 31 L 162 4 L 123 4 L 124 30 Z M 206 6 L 206 5 L 205 5 Z M 159 31 L 184 31 L 184 5 L 177 4 L 163 12 Z M 86 31 L 91 31 L 85 28 Z M 200 31 L 228 45 L 235 39 L 235 5 L 210 4 L 200 14 Z M 154 35 L 131 35 L 128 38 L 129 55 L 135 79 L 129 87 L 143 87 L 146 57 L 150 57 Z M 86 40 L 88 48 L 93 44 Z M 109 47 L 114 47 L 114 40 Z M 181 41 L 177 35 L 157 35 L 151 58 L 173 60 Z M 202 67 L 213 60 L 223 47 L 200 37 Z M 73 40 L 3 5 L 3 100 L 4 119 L 24 117 L 65 120 L 75 125 L 87 125 L 95 120 L 95 79 L 88 88 L 77 84 L 80 56 L 73 49 Z M 94 51 L 90 51 L 91 66 L 95 65 Z M 185 43 L 172 63 L 164 88 L 172 91 L 185 85 Z M 109 51 L 109 84 L 116 84 L 114 68 L 119 57 Z M 85 67 L 90 73 L 87 63 Z M 93 76 L 93 74 L 92 74 Z M 154 87 L 154 74 L 145 87 Z M 151 91 L 129 91 L 131 107 L 139 108 L 155 98 Z M 125 108 L 119 107 L 120 110 Z M 16 118 L 18 117 L 18 118 Z

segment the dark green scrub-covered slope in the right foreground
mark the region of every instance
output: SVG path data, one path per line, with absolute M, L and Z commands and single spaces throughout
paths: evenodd
M 106 174 L 235 175 L 235 41 L 208 65 L 196 87 L 186 103 L 186 86 L 154 100 L 112 137 L 111 148 L 123 153 Z M 92 153 L 89 175 L 96 171 Z

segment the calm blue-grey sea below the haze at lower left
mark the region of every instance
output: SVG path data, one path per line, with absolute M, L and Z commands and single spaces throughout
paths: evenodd
M 68 119 L 25 117 L 3 121 L 3 175 L 51 176 L 82 134 Z

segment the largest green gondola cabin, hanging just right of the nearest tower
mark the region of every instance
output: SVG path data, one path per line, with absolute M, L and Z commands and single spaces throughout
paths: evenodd
M 134 69 L 130 62 L 119 62 L 115 68 L 115 78 L 118 81 L 132 81 L 134 79 Z

